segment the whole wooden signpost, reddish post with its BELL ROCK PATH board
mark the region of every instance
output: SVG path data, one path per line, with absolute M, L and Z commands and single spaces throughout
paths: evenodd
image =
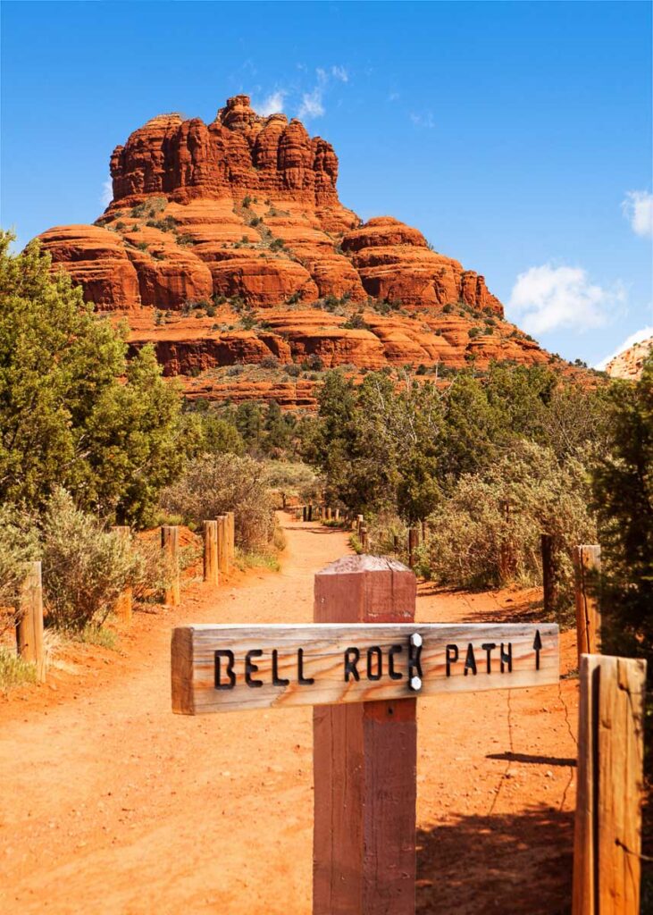
M 316 575 L 310 625 L 173 631 L 183 715 L 314 705 L 314 915 L 414 915 L 415 699 L 558 682 L 558 627 L 415 623 L 415 576 L 379 556 Z

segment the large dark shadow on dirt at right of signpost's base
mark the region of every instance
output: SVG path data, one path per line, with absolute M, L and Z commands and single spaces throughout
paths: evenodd
M 459 816 L 417 833 L 419 915 L 569 915 L 573 814 Z

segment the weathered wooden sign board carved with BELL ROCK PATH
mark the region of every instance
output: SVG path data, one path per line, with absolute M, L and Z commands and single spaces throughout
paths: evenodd
M 558 627 L 339 623 L 173 632 L 183 715 L 556 684 Z

